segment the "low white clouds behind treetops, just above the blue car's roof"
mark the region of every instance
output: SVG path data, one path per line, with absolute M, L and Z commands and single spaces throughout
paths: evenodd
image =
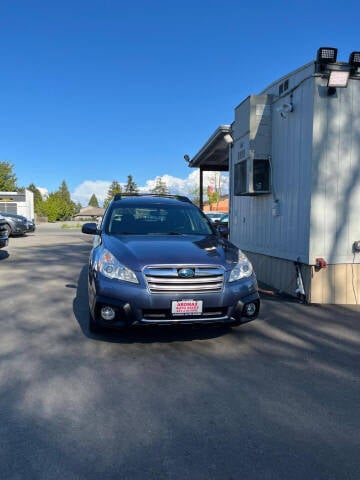
M 155 187 L 156 179 L 161 178 L 166 183 L 171 194 L 186 195 L 191 197 L 194 190 L 199 188 L 200 175 L 199 170 L 193 170 L 187 178 L 173 177 L 172 175 L 159 175 L 153 179 L 147 180 L 144 186 L 138 186 L 140 192 L 150 192 Z M 221 187 L 221 193 L 223 195 L 229 193 L 229 177 L 226 173 L 221 172 L 204 172 L 204 191 L 208 185 Z M 107 180 L 85 180 L 78 185 L 71 194 L 71 198 L 74 202 L 80 202 L 82 205 L 88 205 L 92 194 L 96 195 L 99 203 L 101 204 L 107 195 L 111 181 Z M 121 184 L 124 186 L 125 184 Z

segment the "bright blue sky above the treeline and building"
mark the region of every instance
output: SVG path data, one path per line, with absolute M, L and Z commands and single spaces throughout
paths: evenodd
M 0 161 L 21 186 L 65 180 L 83 204 L 129 174 L 195 182 L 184 154 L 318 47 L 347 61 L 359 14 L 355 1 L 1 0 Z

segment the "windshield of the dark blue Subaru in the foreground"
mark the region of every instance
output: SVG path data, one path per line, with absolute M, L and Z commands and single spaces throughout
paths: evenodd
M 107 216 L 110 235 L 211 235 L 207 218 L 192 205 L 115 206 Z

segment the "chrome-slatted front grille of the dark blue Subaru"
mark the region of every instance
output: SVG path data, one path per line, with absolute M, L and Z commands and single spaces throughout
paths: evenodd
M 179 270 L 191 268 L 194 276 L 179 277 Z M 213 293 L 221 292 L 224 285 L 224 269 L 213 266 L 151 266 L 144 269 L 148 289 L 151 293 Z

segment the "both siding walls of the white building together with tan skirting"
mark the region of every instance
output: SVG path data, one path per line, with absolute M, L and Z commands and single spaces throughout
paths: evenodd
M 309 302 L 354 305 L 360 301 L 360 253 L 353 250 L 360 240 L 360 81 L 350 79 L 329 96 L 327 79 L 314 73 L 309 64 L 288 76 L 280 96 L 286 77 L 262 92 L 273 98 L 272 192 L 231 195 L 230 240 L 247 253 L 260 282 L 296 295 L 298 260 Z M 294 107 L 285 118 L 277 111 L 283 102 Z M 238 124 L 246 114 L 235 115 L 235 133 L 246 131 Z M 235 135 L 232 192 L 239 148 Z M 317 270 L 317 258 L 327 268 Z

